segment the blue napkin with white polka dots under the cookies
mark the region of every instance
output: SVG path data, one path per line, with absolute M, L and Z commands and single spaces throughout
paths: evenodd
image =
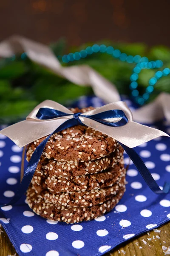
M 134 108 L 130 100 L 125 100 Z M 82 97 L 79 107 L 98 107 L 97 97 Z M 170 134 L 170 124 L 154 124 Z M 159 186 L 170 181 L 170 139 L 161 137 L 136 147 Z M 20 183 L 22 149 L 0 135 L 0 200 L 7 202 Z M 129 158 L 125 154 L 125 163 Z M 65 224 L 46 220 L 32 212 L 26 197 L 0 209 L 0 223 L 21 256 L 100 256 L 124 241 L 170 221 L 170 194 L 156 195 L 130 161 L 127 190 L 119 204 L 93 221 Z

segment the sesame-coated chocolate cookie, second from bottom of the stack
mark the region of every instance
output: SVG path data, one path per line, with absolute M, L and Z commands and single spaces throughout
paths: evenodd
M 106 187 L 104 189 L 85 191 L 85 192 L 70 192 L 70 193 L 58 193 L 52 194 L 47 190 L 43 190 L 36 183 L 31 186 L 35 190 L 38 197 L 44 198 L 45 202 L 51 204 L 61 204 L 67 207 L 92 207 L 97 204 L 102 204 L 104 201 L 109 200 L 116 195 L 117 191 L 126 183 L 125 176 L 120 178 L 112 187 Z

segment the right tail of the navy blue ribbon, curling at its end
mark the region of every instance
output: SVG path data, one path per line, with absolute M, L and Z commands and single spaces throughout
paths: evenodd
M 120 143 L 122 148 L 125 149 L 126 153 L 130 157 L 130 159 L 133 161 L 134 165 L 142 175 L 144 181 L 147 183 L 147 186 L 156 194 L 167 194 L 170 191 L 170 182 L 166 182 L 164 184 L 163 190 L 160 189 L 159 185 L 156 183 L 156 181 L 153 179 L 150 171 L 145 166 L 142 159 L 139 157 L 139 155 L 136 153 L 136 151 L 133 148 L 129 148 L 126 145 Z

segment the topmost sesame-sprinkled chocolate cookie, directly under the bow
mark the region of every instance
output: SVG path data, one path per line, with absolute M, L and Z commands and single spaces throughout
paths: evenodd
M 85 109 L 73 109 L 74 113 L 85 112 Z M 28 155 L 44 140 L 45 137 L 28 145 Z M 109 155 L 119 147 L 119 143 L 106 134 L 102 134 L 90 127 L 77 125 L 51 135 L 42 152 L 46 159 L 67 161 L 95 160 L 100 155 Z

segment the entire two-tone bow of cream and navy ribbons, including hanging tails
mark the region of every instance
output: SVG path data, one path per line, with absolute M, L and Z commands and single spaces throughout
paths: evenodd
M 89 126 L 116 139 L 125 149 L 150 189 L 156 194 L 169 192 L 170 183 L 165 183 L 161 190 L 142 159 L 133 150 L 133 147 L 137 145 L 168 135 L 158 129 L 134 122 L 132 113 L 125 102 L 110 103 L 85 113 L 73 113 L 57 102 L 46 100 L 34 108 L 26 120 L 0 131 L 0 134 L 6 135 L 20 147 L 47 136 L 32 154 L 20 186 L 14 198 L 5 204 L 6 206 L 16 203 L 28 189 L 42 151 L 51 135 L 75 125 Z M 0 203 L 0 207 L 3 206 L 4 204 Z

